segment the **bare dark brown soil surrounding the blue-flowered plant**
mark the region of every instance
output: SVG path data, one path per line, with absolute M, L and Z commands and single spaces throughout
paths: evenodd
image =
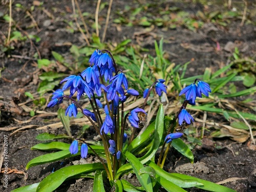
M 105 2 L 105 1 L 103 1 Z M 182 2 L 182 3 L 181 3 Z M 250 57 L 255 60 L 256 53 L 256 27 L 253 22 L 247 22 L 248 19 L 255 21 L 255 14 L 253 10 L 256 4 L 253 1 L 247 1 L 248 12 L 251 15 L 246 17 L 244 25 L 241 25 L 242 17 L 227 19 L 227 25 L 224 27 L 218 23 L 212 23 L 206 20 L 202 28 L 189 30 L 186 26 L 177 25 L 175 29 L 154 26 L 150 32 L 147 32 L 145 27 L 136 25 L 128 27 L 125 24 L 115 24 L 113 20 L 119 18 L 117 11 L 123 10 L 124 6 L 131 6 L 134 8 L 145 6 L 145 3 L 154 6 L 148 7 L 147 12 L 152 12 L 158 17 L 158 9 L 166 7 L 177 7 L 179 10 L 188 12 L 194 15 L 198 11 L 205 12 L 208 10 L 222 11 L 222 5 L 218 1 L 212 1 L 211 5 L 204 6 L 201 3 L 193 3 L 194 1 L 115 1 L 112 7 L 111 19 L 106 33 L 107 42 L 113 44 L 122 41 L 125 38 L 131 38 L 132 44 L 140 45 L 143 48 L 150 50 L 149 54 L 154 55 L 154 40 L 164 38 L 164 50 L 166 51 L 168 59 L 175 63 L 185 63 L 191 61 L 186 72 L 186 76 L 202 74 L 205 68 L 211 68 L 212 71 L 217 71 L 228 63 L 230 56 L 234 51 L 234 47 L 238 47 L 244 57 Z M 242 1 L 232 1 L 233 8 L 243 7 Z M 8 33 L 8 23 L 4 22 L 1 14 L 8 14 L 7 2 L 0 5 L 0 30 L 2 45 Z M 89 12 L 94 15 L 97 1 L 78 1 L 82 12 Z M 24 8 L 18 9 L 15 4 L 21 4 Z M 32 17 L 26 13 L 31 6 L 35 5 L 34 10 L 30 11 L 35 20 L 39 30 L 35 27 L 35 22 Z M 237 7 L 236 7 L 237 6 Z M 106 6 L 107 7 L 107 6 Z M 103 29 L 105 22 L 107 8 L 104 8 L 99 13 L 99 23 Z M 243 13 L 243 9 L 239 9 Z M 127 14 L 127 13 L 124 13 Z M 137 16 L 145 16 L 146 12 L 141 12 Z M 156 16 L 156 17 L 157 17 Z M 52 117 L 44 116 L 42 114 L 32 119 L 28 112 L 18 104 L 28 101 L 28 97 L 24 95 L 26 91 L 34 93 L 38 87 L 38 71 L 37 65 L 33 60 L 35 53 L 39 52 L 41 58 L 53 59 L 51 51 L 56 51 L 60 54 L 68 54 L 71 45 L 84 46 L 86 42 L 83 40 L 81 33 L 74 27 L 75 32 L 71 32 L 69 21 L 74 21 L 72 16 L 71 1 L 44 1 L 42 6 L 38 6 L 37 1 L 15 1 L 13 4 L 12 17 L 15 21 L 16 28 L 23 34 L 34 34 L 41 38 L 39 42 L 34 40 L 26 41 L 12 41 L 11 46 L 13 50 L 7 52 L 0 51 L 0 61 L 2 64 L 2 72 L 0 79 L 0 108 L 1 108 L 1 146 L 3 146 L 5 138 L 8 138 L 8 167 L 10 169 L 17 169 L 19 172 L 10 173 L 8 176 L 8 188 L 4 187 L 3 174 L 0 175 L 0 190 L 11 191 L 15 188 L 25 186 L 32 183 L 40 182 L 47 175 L 54 170 L 61 167 L 71 165 L 79 157 L 73 159 L 65 159 L 63 162 L 49 163 L 39 165 L 25 170 L 26 164 L 29 160 L 46 154 L 41 151 L 31 151 L 30 148 L 39 143 L 35 137 L 39 133 L 65 133 L 63 128 L 53 129 L 37 129 L 38 127 L 48 125 L 52 121 L 57 121 L 56 114 Z M 87 24 L 92 26 L 94 17 L 88 16 Z M 254 23 L 255 24 L 255 23 Z M 75 25 L 75 24 L 74 24 Z M 90 33 L 94 29 L 89 27 Z M 102 30 L 101 30 L 102 31 Z M 101 36 L 102 32 L 100 32 Z M 220 45 L 218 48 L 217 45 Z M 3 46 L 0 47 L 1 49 Z M 239 89 L 246 89 L 242 83 L 239 84 Z M 37 95 L 38 96 L 38 95 Z M 49 98 L 50 94 L 46 94 Z M 243 98 L 238 98 L 243 99 Z M 28 106 L 33 107 L 33 103 Z M 48 111 L 49 109 L 41 109 Z M 56 112 L 57 108 L 54 108 Z M 209 118 L 223 120 L 223 118 L 216 118 L 216 114 L 208 114 Z M 26 122 L 27 121 L 27 122 Z M 31 126 L 29 126 L 31 125 Z M 15 134 L 10 135 L 14 130 L 12 127 L 26 127 Z M 80 126 L 73 126 L 72 132 L 77 134 Z M 10 131 L 4 131 L 10 129 Z M 210 127 L 209 127 L 210 129 Z M 210 131 L 213 131 L 210 129 Z M 93 130 L 89 130 L 84 135 L 85 138 L 92 139 L 95 136 Z M 248 145 L 249 141 L 245 143 L 233 142 L 229 138 L 216 140 L 206 134 L 202 140 L 203 145 L 194 148 L 195 164 L 190 164 L 189 161 L 178 154 L 178 152 L 171 150 L 164 166 L 168 172 L 185 173 L 201 179 L 212 182 L 223 182 L 224 186 L 230 187 L 237 191 L 256 191 L 256 164 L 255 151 L 251 150 Z M 7 136 L 7 137 L 6 137 Z M 63 140 L 71 142 L 70 140 Z M 2 166 L 4 167 L 4 165 Z M 127 180 L 136 185 L 136 178 L 125 176 Z M 226 181 L 226 179 L 229 179 Z M 61 185 L 56 191 L 93 191 L 93 180 L 78 179 L 70 180 Z M 106 191 L 110 191 L 110 186 L 105 186 Z M 161 191 L 165 191 L 161 189 Z M 187 189 L 187 191 L 201 191 L 198 189 Z

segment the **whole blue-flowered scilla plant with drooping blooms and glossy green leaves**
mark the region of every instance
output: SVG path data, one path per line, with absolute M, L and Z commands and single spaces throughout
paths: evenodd
M 170 145 L 193 162 L 193 154 L 180 137 L 186 125 L 194 121 L 186 110 L 187 104 L 194 105 L 196 97 L 202 97 L 202 94 L 208 96 L 211 92 L 206 82 L 196 79 L 181 91 L 180 95 L 185 94 L 185 101 L 174 118 L 164 116 L 161 104 L 155 121 L 136 137 L 137 130 L 142 129 L 146 124 L 147 114 L 144 108 L 148 98 L 152 93 L 158 96 L 163 92 L 166 93 L 165 80 L 157 79 L 144 91 L 144 103 L 141 108 L 124 111 L 126 99 L 131 96 L 136 97 L 139 93 L 129 89 L 129 82 L 124 72 L 118 70 L 113 55 L 108 50 L 96 50 L 89 62 L 90 66 L 81 74 L 70 75 L 60 82 L 66 83 L 62 89 L 53 93 L 48 107 L 55 106 L 63 99 L 70 100 L 66 116 L 76 117 L 78 110 L 81 110 L 100 136 L 101 144 L 96 145 L 87 141 L 86 138 L 75 136 L 72 137 L 75 139 L 71 144 L 56 141 L 41 143 L 35 145 L 33 149 L 59 150 L 59 152 L 32 159 L 26 168 L 74 156 L 87 158 L 88 154 L 92 154 L 99 161 L 60 168 L 40 183 L 15 190 L 48 192 L 58 188 L 67 179 L 88 177 L 94 178 L 94 191 L 105 191 L 103 181 L 109 181 L 109 186 L 115 191 L 151 192 L 158 191 L 160 187 L 167 191 L 185 191 L 183 188 L 187 187 L 198 187 L 210 191 L 233 191 L 209 181 L 177 173 L 170 174 L 162 169 Z M 70 95 L 64 94 L 67 89 Z M 84 96 L 90 103 L 87 109 L 79 103 L 80 98 Z M 125 131 L 128 121 L 133 126 L 130 137 Z M 155 158 L 157 152 L 160 152 L 158 159 Z M 122 176 L 127 173 L 134 173 L 141 186 L 134 186 L 122 179 Z

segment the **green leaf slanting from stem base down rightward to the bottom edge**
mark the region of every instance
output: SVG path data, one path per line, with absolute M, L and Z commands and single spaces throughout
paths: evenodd
M 153 192 L 150 176 L 148 174 L 139 174 L 139 170 L 144 167 L 142 163 L 130 152 L 126 151 L 124 155 L 127 158 L 127 160 L 131 163 L 140 184 L 144 187 L 144 189 L 147 192 Z

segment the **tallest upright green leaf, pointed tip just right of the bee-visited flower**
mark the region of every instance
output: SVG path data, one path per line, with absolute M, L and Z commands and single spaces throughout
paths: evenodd
M 150 150 L 148 150 L 148 152 L 142 158 L 140 158 L 140 161 L 142 164 L 146 163 L 152 157 L 155 156 L 155 153 L 157 152 L 163 137 L 163 124 L 164 124 L 163 104 L 160 104 L 159 110 L 157 112 L 157 117 L 156 117 L 153 145 L 151 146 Z

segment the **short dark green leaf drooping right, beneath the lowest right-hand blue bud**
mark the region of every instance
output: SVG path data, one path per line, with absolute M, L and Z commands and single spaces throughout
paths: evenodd
M 194 162 L 194 156 L 193 153 L 191 152 L 191 150 L 189 149 L 189 147 L 186 145 L 186 143 L 184 143 L 180 138 L 178 139 L 174 139 L 172 141 L 172 146 L 178 151 L 180 152 L 182 155 L 184 155 L 185 157 L 187 157 L 191 163 Z

